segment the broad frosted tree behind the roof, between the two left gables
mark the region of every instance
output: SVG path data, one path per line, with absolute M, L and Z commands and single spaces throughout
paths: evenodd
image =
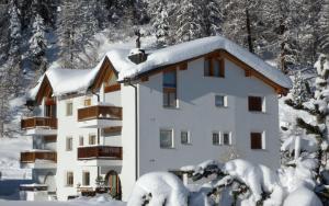
M 84 47 L 99 30 L 95 4 L 95 0 L 63 1 L 58 14 L 57 34 L 60 47 L 59 57 L 66 68 L 88 67 L 88 55 Z

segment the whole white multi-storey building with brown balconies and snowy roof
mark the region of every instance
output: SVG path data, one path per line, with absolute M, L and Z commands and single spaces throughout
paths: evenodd
M 127 199 L 138 176 L 204 159 L 277 168 L 277 95 L 291 85 L 219 36 L 110 50 L 90 70 L 49 69 L 31 91 L 22 129 L 34 149 L 21 165 L 60 201 L 97 190 Z

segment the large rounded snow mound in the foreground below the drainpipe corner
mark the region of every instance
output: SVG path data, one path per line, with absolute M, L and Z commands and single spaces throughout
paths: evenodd
M 189 191 L 172 173 L 151 172 L 143 175 L 136 182 L 127 206 L 144 205 L 149 206 L 170 205 L 188 206 Z

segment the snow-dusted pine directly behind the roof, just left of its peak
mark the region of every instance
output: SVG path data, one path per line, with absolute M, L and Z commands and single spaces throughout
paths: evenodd
M 177 8 L 175 19 L 178 22 L 175 41 L 186 42 L 203 36 L 202 4 L 196 0 L 182 0 Z

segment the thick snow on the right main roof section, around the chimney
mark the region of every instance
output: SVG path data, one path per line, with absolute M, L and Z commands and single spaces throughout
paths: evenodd
M 129 61 L 127 58 L 129 50 L 121 50 L 118 53 L 112 50 L 107 53 L 106 56 L 110 58 L 115 69 L 120 71 L 118 79 L 123 80 L 124 78 L 132 78 L 154 68 L 180 62 L 216 49 L 227 50 L 283 88 L 292 87 L 292 81 L 288 77 L 284 76 L 281 71 L 273 68 L 261 58 L 222 36 L 198 38 L 155 50 L 148 55 L 145 62 L 139 65 Z

